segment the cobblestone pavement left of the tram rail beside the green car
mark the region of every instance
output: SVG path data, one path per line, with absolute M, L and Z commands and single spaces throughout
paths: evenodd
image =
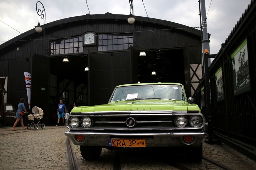
M 65 126 L 0 128 L 0 169 L 67 169 Z

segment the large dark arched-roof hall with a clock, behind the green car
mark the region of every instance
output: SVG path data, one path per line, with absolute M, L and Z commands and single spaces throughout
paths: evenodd
M 178 82 L 192 96 L 202 74 L 202 32 L 140 16 L 129 24 L 126 17 L 105 13 L 61 19 L 45 24 L 45 33 L 31 29 L 0 45 L 3 101 L 16 106 L 27 98 L 23 72 L 32 75 L 31 108 L 44 110 L 46 124 L 56 123 L 60 99 L 69 110 L 74 102 L 103 104 L 120 84 Z M 141 51 L 146 56 L 139 56 Z M 62 62 L 65 57 L 68 63 Z

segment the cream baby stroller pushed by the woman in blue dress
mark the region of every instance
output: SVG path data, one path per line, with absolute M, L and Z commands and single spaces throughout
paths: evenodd
M 40 107 L 33 107 L 32 114 L 28 115 L 28 119 L 31 123 L 27 125 L 27 128 L 31 129 L 31 127 L 34 127 L 35 129 L 38 129 L 39 126 L 41 126 L 41 128 L 44 129 L 44 123 L 40 123 L 41 119 L 43 119 L 43 115 L 44 111 Z

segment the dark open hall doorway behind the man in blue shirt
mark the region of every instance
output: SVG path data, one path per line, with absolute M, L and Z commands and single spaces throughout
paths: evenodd
M 57 106 L 63 100 L 69 112 L 76 106 L 88 103 L 88 67 L 87 55 L 69 56 L 69 62 L 63 63 L 64 57 L 50 58 L 50 115 L 51 124 L 57 122 Z

